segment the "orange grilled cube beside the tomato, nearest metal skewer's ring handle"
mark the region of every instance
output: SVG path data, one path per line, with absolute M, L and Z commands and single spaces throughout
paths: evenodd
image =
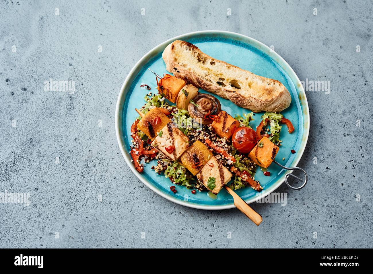
M 275 158 L 279 147 L 273 144 L 267 137 L 260 139 L 258 144 L 250 151 L 249 157 L 260 167 L 269 167 Z

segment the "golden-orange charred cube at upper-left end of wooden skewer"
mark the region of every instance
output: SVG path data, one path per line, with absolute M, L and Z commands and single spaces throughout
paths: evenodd
M 159 108 L 152 108 L 142 117 L 137 128 L 153 141 L 157 137 L 157 133 L 169 122 L 171 120 Z

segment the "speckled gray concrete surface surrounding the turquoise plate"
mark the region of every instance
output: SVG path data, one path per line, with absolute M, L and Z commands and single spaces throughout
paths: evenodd
M 31 202 L 0 204 L 0 247 L 372 247 L 372 3 L 160 2 L 1 1 L 0 192 L 29 192 Z M 252 204 L 259 227 L 236 209 L 158 196 L 117 145 L 115 104 L 129 70 L 160 42 L 209 29 L 273 45 L 301 80 L 330 81 L 330 94 L 307 92 L 299 166 L 310 182 L 281 186 L 286 206 Z M 74 80 L 75 93 L 44 91 L 50 78 Z

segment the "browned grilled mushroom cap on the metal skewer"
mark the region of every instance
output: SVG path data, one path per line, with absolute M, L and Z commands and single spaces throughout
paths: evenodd
M 203 125 L 210 125 L 213 121 L 211 119 L 205 119 L 205 115 L 209 113 L 210 115 L 217 115 L 222 111 L 219 100 L 210 94 L 200 93 L 193 99 L 194 103 L 198 105 L 195 106 L 192 103 L 188 105 L 189 115 L 196 119 L 197 121 L 202 121 Z

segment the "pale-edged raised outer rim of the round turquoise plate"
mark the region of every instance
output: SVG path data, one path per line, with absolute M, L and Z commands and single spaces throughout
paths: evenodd
M 129 168 L 132 170 L 132 172 L 138 177 L 138 179 L 144 183 L 148 188 L 162 196 L 163 198 L 166 198 L 172 202 L 175 202 L 176 204 L 179 205 L 184 205 L 186 207 L 192 207 L 192 208 L 198 208 L 198 209 L 203 209 L 203 210 L 224 210 L 224 209 L 229 209 L 229 208 L 234 208 L 235 205 L 233 203 L 227 204 L 227 205 L 202 205 L 202 204 L 195 204 L 192 202 L 188 201 L 183 201 L 177 198 L 174 198 L 173 196 L 162 192 L 160 189 L 158 189 L 156 186 L 153 185 L 152 182 L 150 182 L 147 178 L 145 178 L 141 173 L 138 173 L 135 170 L 134 165 L 131 163 L 131 155 L 129 154 L 128 151 L 126 151 L 125 144 L 124 144 L 124 139 L 122 136 L 122 108 L 123 108 L 123 103 L 125 102 L 126 95 L 131 88 L 131 83 L 134 81 L 136 78 L 138 72 L 141 70 L 141 67 L 149 60 L 152 59 L 154 56 L 159 54 L 161 51 L 164 50 L 164 48 L 170 44 L 171 42 L 175 40 L 187 40 L 188 38 L 191 37 L 198 37 L 198 36 L 206 36 L 206 35 L 212 35 L 212 36 L 222 36 L 222 37 L 229 37 L 232 40 L 237 40 L 246 44 L 250 44 L 253 47 L 258 48 L 259 50 L 263 51 L 266 53 L 270 58 L 272 58 L 276 63 L 279 64 L 279 66 L 286 72 L 286 74 L 289 76 L 289 78 L 292 80 L 295 88 L 298 90 L 298 98 L 300 99 L 300 104 L 302 106 L 303 110 L 303 118 L 304 118 L 304 123 L 303 123 L 303 134 L 302 134 L 302 142 L 301 142 L 301 147 L 298 149 L 297 154 L 295 155 L 293 161 L 292 161 L 292 167 L 297 166 L 299 163 L 304 149 L 307 145 L 307 140 L 308 140 L 308 135 L 310 131 L 310 116 L 309 116 L 309 108 L 308 108 L 308 102 L 307 102 L 307 97 L 304 92 L 304 88 L 301 84 L 300 79 L 294 72 L 294 70 L 289 66 L 288 63 L 275 51 L 273 51 L 271 48 L 269 48 L 267 45 L 264 45 L 263 43 L 255 40 L 254 38 L 248 37 L 246 35 L 238 34 L 235 32 L 230 32 L 230 31 L 195 31 L 195 32 L 189 32 L 186 34 L 179 35 L 177 37 L 173 37 L 167 41 L 164 41 L 163 43 L 157 45 L 150 51 L 148 51 L 147 54 L 145 54 L 136 64 L 135 66 L 131 69 L 129 72 L 128 76 L 126 77 L 125 81 L 123 82 L 122 88 L 120 89 L 118 99 L 117 99 L 117 104 L 116 104 L 116 110 L 115 110 L 115 131 L 116 131 L 116 137 L 117 137 L 117 142 L 119 144 L 120 151 L 122 152 L 123 157 L 125 158 L 126 163 L 128 164 Z M 291 173 L 292 171 L 288 171 L 286 173 Z M 285 174 L 284 174 L 285 175 Z M 258 196 L 253 196 L 251 198 L 245 199 L 244 201 L 247 204 L 250 204 L 257 199 L 262 199 L 264 196 L 267 196 L 274 190 L 276 190 L 282 183 L 285 182 L 284 177 L 279 178 L 277 182 L 273 183 L 272 186 L 270 186 L 268 189 L 266 189 L 265 192 L 261 192 L 261 195 Z

